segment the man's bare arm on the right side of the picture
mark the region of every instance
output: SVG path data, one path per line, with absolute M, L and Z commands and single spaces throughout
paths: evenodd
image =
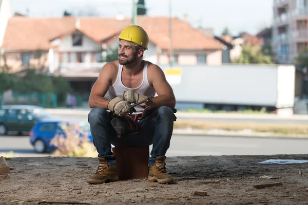
M 168 106 L 174 108 L 176 106 L 176 97 L 174 92 L 166 80 L 166 76 L 162 69 L 157 65 L 153 66 L 150 70 L 150 82 L 155 89 L 158 96 L 154 97 L 147 106 L 151 107 L 160 107 Z

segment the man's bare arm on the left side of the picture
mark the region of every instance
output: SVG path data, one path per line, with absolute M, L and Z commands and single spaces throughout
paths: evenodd
M 104 98 L 105 94 L 108 91 L 109 86 L 111 85 L 112 79 L 112 63 L 107 63 L 103 66 L 100 71 L 97 81 L 95 81 L 90 97 L 89 97 L 89 107 L 90 108 L 104 108 L 108 109 L 107 105 L 110 100 Z

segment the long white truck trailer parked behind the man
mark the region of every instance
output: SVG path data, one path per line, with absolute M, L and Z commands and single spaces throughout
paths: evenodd
M 161 66 L 177 103 L 203 104 L 209 110 L 292 110 L 293 65 Z

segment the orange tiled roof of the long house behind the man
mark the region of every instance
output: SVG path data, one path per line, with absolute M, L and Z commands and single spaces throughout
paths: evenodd
M 3 48 L 11 50 L 48 50 L 50 40 L 74 31 L 75 17 L 62 18 L 27 18 L 14 16 L 9 19 Z M 138 16 L 138 25 L 143 27 L 151 42 L 161 49 L 169 49 L 169 17 Z M 118 35 L 125 27 L 131 25 L 131 19 L 81 17 L 79 30 L 97 42 Z M 174 49 L 218 50 L 222 46 L 183 22 L 172 18 Z

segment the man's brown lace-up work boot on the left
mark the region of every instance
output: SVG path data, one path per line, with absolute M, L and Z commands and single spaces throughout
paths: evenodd
M 100 166 L 96 173 L 87 178 L 88 183 L 105 183 L 107 181 L 118 181 L 117 169 L 115 165 L 108 166 L 105 158 L 99 157 Z

